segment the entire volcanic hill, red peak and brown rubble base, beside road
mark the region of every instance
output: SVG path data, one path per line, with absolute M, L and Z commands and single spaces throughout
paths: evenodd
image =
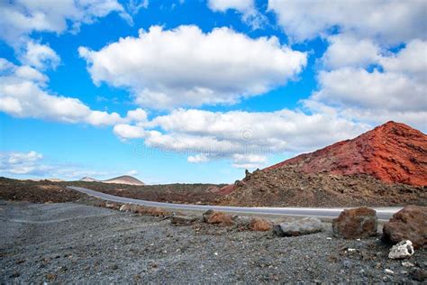
M 427 136 L 395 122 L 248 173 L 222 188 L 236 206 L 427 205 Z

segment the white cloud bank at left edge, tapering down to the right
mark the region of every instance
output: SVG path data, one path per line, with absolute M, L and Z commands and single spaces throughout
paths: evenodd
M 91 110 L 77 98 L 50 93 L 46 81 L 48 78 L 36 69 L 0 59 L 0 111 L 68 123 L 111 125 L 125 121 L 117 113 Z

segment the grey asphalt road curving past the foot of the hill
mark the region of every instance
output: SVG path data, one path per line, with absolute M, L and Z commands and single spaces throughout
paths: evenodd
M 102 198 L 104 200 L 130 203 L 148 207 L 163 207 L 177 210 L 187 211 L 206 211 L 209 209 L 241 213 L 241 214 L 256 214 L 256 215 L 269 215 L 269 216 L 317 216 L 322 218 L 333 218 L 340 215 L 344 207 L 341 208 L 320 208 L 320 207 L 229 207 L 229 206 L 210 206 L 210 205 L 188 205 L 188 204 L 172 204 L 153 202 L 140 199 L 124 198 L 114 195 L 105 194 L 102 192 L 94 191 L 88 188 L 80 188 L 68 186 L 68 188 L 85 193 L 95 198 Z M 345 207 L 350 208 L 350 207 Z M 402 209 L 402 207 L 374 207 L 377 211 L 377 218 L 381 221 L 388 221 L 388 219 L 395 214 L 395 212 Z

